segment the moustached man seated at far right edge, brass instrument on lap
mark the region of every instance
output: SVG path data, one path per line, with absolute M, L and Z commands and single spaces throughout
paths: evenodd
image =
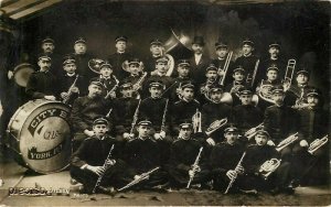
M 325 143 L 316 141 L 316 148 L 310 146 L 314 140 L 322 140 L 328 134 L 329 113 L 322 109 L 322 96 L 318 89 L 309 89 L 306 96 L 308 106 L 297 111 L 301 139 L 292 151 L 295 187 L 299 184 L 323 184 L 329 178 L 328 140 Z

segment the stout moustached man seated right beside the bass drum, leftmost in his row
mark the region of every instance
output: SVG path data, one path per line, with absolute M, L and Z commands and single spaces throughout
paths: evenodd
M 92 78 L 88 86 L 88 95 L 77 98 L 73 103 L 71 121 L 74 130 L 74 151 L 83 140 L 94 135 L 93 121 L 100 116 L 106 116 L 111 108 L 111 102 L 102 97 L 104 85 Z

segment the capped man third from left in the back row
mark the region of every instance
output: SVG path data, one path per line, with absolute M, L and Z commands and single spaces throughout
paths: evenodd
M 128 37 L 120 35 L 115 37 L 116 53 L 108 57 L 110 65 L 114 67 L 114 75 L 122 80 L 125 77 L 129 76 L 126 70 L 122 69 L 122 63 L 131 58 L 131 54 L 127 52 Z

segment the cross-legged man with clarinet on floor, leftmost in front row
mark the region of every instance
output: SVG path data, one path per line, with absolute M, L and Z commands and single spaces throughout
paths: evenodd
M 94 135 L 84 140 L 71 159 L 71 176 L 83 184 L 81 193 L 114 192 L 111 187 L 120 187 L 120 176 L 125 167 L 121 161 L 124 144 L 107 135 L 109 122 L 97 118 L 93 122 Z M 110 152 L 110 149 L 114 148 Z M 110 154 L 110 157 L 108 155 Z M 97 184 L 98 178 L 102 177 Z

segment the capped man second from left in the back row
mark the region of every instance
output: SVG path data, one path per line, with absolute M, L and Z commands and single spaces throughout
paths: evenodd
M 88 80 L 95 77 L 95 74 L 88 67 L 88 61 L 92 59 L 92 55 L 87 53 L 85 39 L 78 37 L 75 41 L 73 56 L 76 61 L 77 74 L 85 78 L 85 87 L 87 88 Z

